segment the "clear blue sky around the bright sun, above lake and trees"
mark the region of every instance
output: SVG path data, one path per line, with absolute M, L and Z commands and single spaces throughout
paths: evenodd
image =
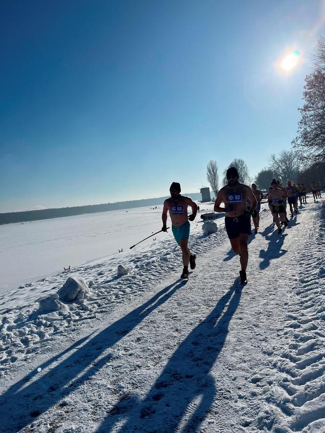
M 10 0 L 0 8 L 0 212 L 254 176 L 297 131 L 318 0 Z M 288 49 L 302 61 L 275 64 Z

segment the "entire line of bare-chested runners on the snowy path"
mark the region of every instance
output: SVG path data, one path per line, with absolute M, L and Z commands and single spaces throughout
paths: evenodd
M 258 232 L 259 210 L 261 200 L 267 198 L 269 209 L 273 216 L 273 222 L 278 228 L 278 233 L 282 233 L 282 227 L 287 227 L 287 204 L 289 205 L 290 215 L 298 213 L 298 201 L 300 205 L 307 203 L 307 188 L 303 183 L 287 182 L 284 187 L 281 182 L 273 179 L 269 191 L 265 194 L 257 189 L 255 183 L 252 187 L 238 182 L 239 174 L 235 167 L 227 170 L 227 185 L 222 187 L 214 203 L 215 212 L 225 212 L 225 227 L 232 246 L 232 250 L 239 254 L 240 284 L 247 284 L 246 268 L 248 263 L 248 238 L 252 234 L 251 218 L 253 219 L 254 232 Z M 310 189 L 313 194 L 314 202 L 321 198 L 321 184 L 312 182 Z M 167 213 L 172 222 L 172 232 L 176 242 L 182 250 L 183 272 L 181 278 L 188 278 L 188 266 L 194 269 L 196 266 L 196 254 L 188 248 L 189 221 L 194 221 L 198 206 L 190 197 L 181 195 L 181 185 L 173 182 L 169 188 L 170 198 L 163 203 L 163 228 L 167 231 Z M 221 206 L 221 203 L 224 206 Z M 188 216 L 187 207 L 192 208 L 192 213 Z

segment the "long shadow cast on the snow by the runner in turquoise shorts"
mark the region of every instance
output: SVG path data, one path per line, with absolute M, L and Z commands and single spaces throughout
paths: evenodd
M 102 353 L 131 332 L 185 283 L 186 281 L 177 280 L 165 287 L 143 305 L 96 334 L 67 359 L 51 368 L 31 384 L 23 387 L 34 375 L 38 374 L 36 371 L 31 372 L 23 380 L 5 391 L 0 396 L 1 432 L 17 432 L 23 429 L 37 416 L 89 380 L 112 357 L 111 354 L 106 354 L 98 359 Z M 88 338 L 75 342 L 73 346 L 84 343 Z M 69 352 L 70 349 L 68 348 L 63 353 Z M 57 360 L 61 356 L 62 354 L 54 357 L 41 367 L 51 364 L 53 360 Z M 87 371 L 76 379 L 85 369 Z

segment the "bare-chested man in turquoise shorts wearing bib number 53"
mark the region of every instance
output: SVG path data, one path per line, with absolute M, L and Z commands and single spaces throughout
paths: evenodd
M 163 202 L 163 231 L 167 231 L 167 211 L 169 211 L 169 216 L 172 223 L 173 235 L 176 242 L 181 247 L 182 258 L 183 258 L 183 272 L 181 278 L 188 278 L 188 263 L 190 268 L 195 268 L 196 254 L 191 254 L 188 248 L 188 238 L 189 238 L 189 221 L 194 221 L 197 213 L 197 205 L 189 197 L 184 197 L 181 195 L 181 185 L 178 182 L 173 182 L 169 188 L 170 199 Z M 192 208 L 192 214 L 187 216 L 187 207 Z

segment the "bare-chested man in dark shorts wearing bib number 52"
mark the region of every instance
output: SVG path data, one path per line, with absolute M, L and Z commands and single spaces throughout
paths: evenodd
M 238 182 L 238 172 L 235 167 L 227 170 L 228 185 L 218 192 L 214 203 L 215 212 L 226 212 L 225 226 L 232 250 L 240 255 L 240 284 L 247 284 L 246 268 L 248 262 L 247 242 L 251 234 L 251 215 L 257 205 L 251 188 Z M 246 208 L 246 200 L 251 201 L 251 210 Z M 225 207 L 220 207 L 224 202 Z

